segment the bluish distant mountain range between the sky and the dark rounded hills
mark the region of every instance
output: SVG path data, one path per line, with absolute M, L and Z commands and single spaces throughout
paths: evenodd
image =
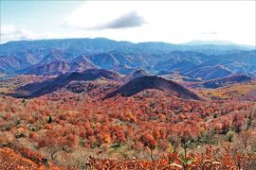
M 58 76 L 95 68 L 123 75 L 138 69 L 153 75 L 178 72 L 203 80 L 236 73 L 253 76 L 256 74 L 256 50 L 230 42 L 218 45 L 208 42 L 133 43 L 103 38 L 20 41 L 0 45 L 1 74 Z

